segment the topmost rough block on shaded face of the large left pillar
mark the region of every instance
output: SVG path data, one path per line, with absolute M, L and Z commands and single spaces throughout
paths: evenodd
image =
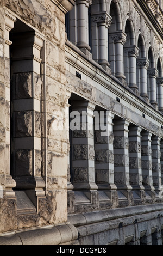
M 13 75 L 12 79 L 15 99 L 29 99 L 32 97 L 32 73 L 17 73 Z

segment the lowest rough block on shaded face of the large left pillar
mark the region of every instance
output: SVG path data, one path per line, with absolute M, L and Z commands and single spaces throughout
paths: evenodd
M 32 150 L 16 150 L 14 176 L 30 176 L 32 171 Z

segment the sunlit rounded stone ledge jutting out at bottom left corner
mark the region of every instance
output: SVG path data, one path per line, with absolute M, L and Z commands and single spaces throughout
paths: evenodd
M 78 231 L 73 225 L 61 224 L 5 233 L 0 236 L 0 245 L 61 245 L 77 238 Z

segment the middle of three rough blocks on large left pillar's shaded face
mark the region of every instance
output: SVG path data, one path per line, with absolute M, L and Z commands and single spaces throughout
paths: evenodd
M 19 111 L 15 113 L 15 136 L 32 136 L 32 111 Z

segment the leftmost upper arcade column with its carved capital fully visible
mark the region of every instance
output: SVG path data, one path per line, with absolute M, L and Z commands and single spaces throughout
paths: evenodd
M 96 23 L 98 30 L 97 34 L 95 33 L 97 37 L 94 39 L 96 40 L 95 52 L 98 54 L 98 64 L 111 74 L 108 62 L 108 27 L 111 25 L 111 17 L 106 13 L 93 14 L 92 21 Z

